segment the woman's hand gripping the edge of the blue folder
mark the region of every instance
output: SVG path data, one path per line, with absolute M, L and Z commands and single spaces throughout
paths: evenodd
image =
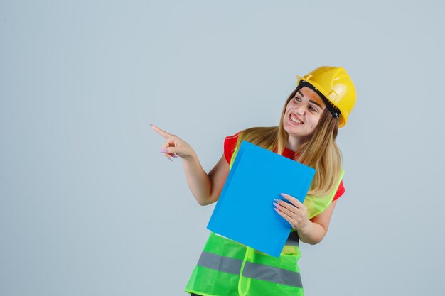
M 288 221 L 292 228 L 305 231 L 307 227 L 311 224 L 307 216 L 307 209 L 298 199 L 291 197 L 289 194 L 282 193 L 282 197 L 289 200 L 289 202 L 284 202 L 279 199 L 275 199 L 275 211 L 280 214 L 286 221 Z

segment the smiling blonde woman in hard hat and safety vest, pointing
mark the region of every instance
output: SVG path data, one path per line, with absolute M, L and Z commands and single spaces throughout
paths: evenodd
M 318 67 L 299 77 L 282 111 L 279 126 L 248 128 L 225 138 L 225 151 L 207 174 L 188 143 L 162 131 L 161 153 L 181 157 L 188 185 L 200 205 L 218 200 L 242 140 L 316 169 L 304 203 L 288 194 L 275 211 L 292 226 L 279 258 L 210 233 L 186 292 L 191 295 L 304 295 L 297 261 L 299 241 L 319 243 L 328 231 L 336 199 L 344 192 L 338 128 L 355 104 L 355 88 L 341 67 Z

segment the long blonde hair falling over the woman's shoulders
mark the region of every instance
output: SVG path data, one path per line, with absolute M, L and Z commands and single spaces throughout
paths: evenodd
M 245 140 L 267 150 L 277 150 L 281 155 L 289 138 L 289 133 L 283 126 L 284 114 L 287 104 L 295 94 L 296 90 L 286 99 L 279 126 L 247 128 L 238 136 L 237 146 Z M 296 150 L 294 160 L 316 169 L 309 195 L 323 196 L 337 189 L 341 175 L 341 152 L 336 144 L 337 133 L 338 117 L 334 118 L 325 108 L 309 141 Z

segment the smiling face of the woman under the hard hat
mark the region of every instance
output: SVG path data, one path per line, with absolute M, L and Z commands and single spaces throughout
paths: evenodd
M 310 138 L 325 108 L 323 99 L 312 89 L 299 89 L 287 103 L 283 118 L 284 130 L 300 141 Z

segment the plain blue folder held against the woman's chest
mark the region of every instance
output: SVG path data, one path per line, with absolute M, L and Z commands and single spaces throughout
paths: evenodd
M 207 229 L 258 251 L 279 257 L 292 229 L 274 210 L 280 193 L 300 202 L 315 170 L 242 141 Z

